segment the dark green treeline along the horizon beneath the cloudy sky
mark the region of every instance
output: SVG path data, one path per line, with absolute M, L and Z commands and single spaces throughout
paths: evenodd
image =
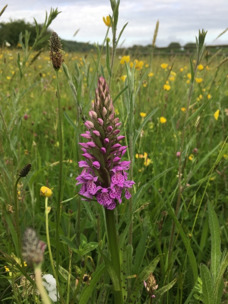
M 38 24 L 40 30 L 42 28 L 42 24 Z M 25 30 L 30 32 L 30 39 L 29 39 L 29 46 L 32 46 L 35 38 L 36 38 L 36 30 L 35 24 L 31 24 L 29 22 L 25 22 L 24 20 L 11 20 L 10 22 L 0 22 L 0 47 L 4 47 L 6 42 L 8 42 L 11 48 L 20 48 L 19 45 L 19 34 L 22 32 L 22 35 L 25 33 Z M 52 30 L 46 30 L 45 35 L 51 35 Z M 77 42 L 77 41 L 68 41 L 68 40 L 61 40 L 63 44 L 63 49 L 65 52 L 89 52 L 91 50 L 95 50 L 96 46 L 90 43 L 84 42 Z M 48 40 L 43 42 L 39 45 L 39 49 L 48 50 L 49 43 Z M 216 53 L 218 48 L 222 48 L 222 51 L 228 52 L 228 45 L 227 47 L 217 47 L 217 48 L 210 48 L 210 53 Z M 126 52 L 127 49 L 127 52 Z M 149 54 L 151 50 L 151 45 L 147 46 L 140 46 L 134 45 L 133 47 L 129 48 L 119 48 L 118 52 L 123 52 L 132 54 L 132 53 L 142 53 L 142 54 Z M 105 46 L 104 46 L 105 51 Z M 181 46 L 178 42 L 171 42 L 168 47 L 164 48 L 157 48 L 155 47 L 154 53 L 165 54 L 165 53 L 193 53 L 196 51 L 196 43 L 187 43 L 184 46 Z

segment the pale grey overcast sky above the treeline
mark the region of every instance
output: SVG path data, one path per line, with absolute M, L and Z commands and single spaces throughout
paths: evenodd
M 43 23 L 45 10 L 58 7 L 62 13 L 50 28 L 62 39 L 78 42 L 102 43 L 107 29 L 102 17 L 112 13 L 109 0 L 1 0 L 0 3 L 0 10 L 8 3 L 1 22 L 10 18 L 32 22 L 34 17 Z M 126 39 L 125 47 L 150 44 L 159 19 L 158 47 L 168 46 L 170 42 L 181 45 L 195 42 L 202 28 L 208 30 L 208 45 L 228 44 L 228 31 L 214 41 L 228 27 L 227 16 L 227 0 L 121 0 L 118 33 L 125 23 L 128 25 L 120 43 Z M 80 31 L 73 37 L 78 28 Z

